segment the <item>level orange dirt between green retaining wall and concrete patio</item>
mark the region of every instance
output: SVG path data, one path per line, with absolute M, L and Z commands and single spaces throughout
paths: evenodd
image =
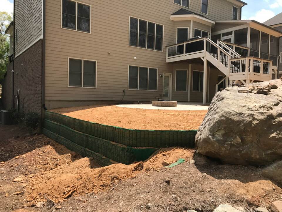
M 70 117 L 137 130 L 197 130 L 207 110 L 148 110 L 92 105 L 51 110 Z

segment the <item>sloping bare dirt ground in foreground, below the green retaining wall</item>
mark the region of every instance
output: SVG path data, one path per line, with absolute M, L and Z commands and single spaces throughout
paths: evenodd
M 1 125 L 0 135 L 1 212 L 132 212 L 148 211 L 148 203 L 157 212 L 209 212 L 222 203 L 253 211 L 247 205 L 252 195 L 263 207 L 282 200 L 282 189 L 261 177 L 259 168 L 222 165 L 193 149 L 163 149 L 144 163 L 100 167 L 44 135 L 30 137 Z M 162 165 L 179 158 L 186 162 L 173 168 Z M 192 159 L 195 164 L 189 164 Z M 15 178 L 21 181 L 13 182 Z M 44 196 L 55 204 L 30 207 Z

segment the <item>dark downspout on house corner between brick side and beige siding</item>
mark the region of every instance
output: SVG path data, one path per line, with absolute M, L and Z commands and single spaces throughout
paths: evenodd
M 46 22 L 46 7 L 45 7 L 45 0 L 43 1 L 43 41 L 42 41 L 42 107 L 45 110 L 47 110 L 45 106 L 45 22 Z

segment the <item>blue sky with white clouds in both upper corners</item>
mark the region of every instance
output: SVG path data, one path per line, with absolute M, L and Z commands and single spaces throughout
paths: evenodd
M 248 5 L 243 7 L 242 19 L 254 19 L 263 23 L 282 12 L 282 0 L 243 1 L 248 3 Z M 0 11 L 13 11 L 13 0 L 0 0 L 0 5 Z

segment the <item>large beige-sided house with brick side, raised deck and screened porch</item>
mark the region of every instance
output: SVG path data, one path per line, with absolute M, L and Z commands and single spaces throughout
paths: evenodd
M 40 112 L 41 106 L 155 97 L 205 104 L 233 82 L 270 80 L 278 69 L 282 33 L 241 20 L 244 5 L 239 0 L 15 0 L 6 108 L 13 102 L 20 110 Z

